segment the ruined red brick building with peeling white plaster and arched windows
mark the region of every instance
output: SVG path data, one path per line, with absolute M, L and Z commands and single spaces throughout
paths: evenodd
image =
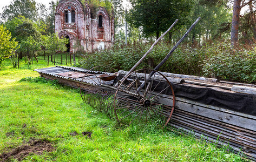
M 56 7 L 55 32 L 69 39 L 68 51 L 79 42 L 84 51 L 105 49 L 114 43 L 114 14 L 99 7 L 90 10 L 87 1 L 61 0 Z M 110 16 L 111 15 L 111 16 Z

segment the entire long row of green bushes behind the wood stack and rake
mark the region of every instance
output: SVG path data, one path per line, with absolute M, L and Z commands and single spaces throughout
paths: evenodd
M 137 69 L 154 69 L 166 57 L 173 45 L 161 43 Z M 112 71 L 130 70 L 147 52 L 150 44 L 134 44 L 108 50 L 86 53 L 79 60 L 83 68 L 109 65 Z M 254 46 L 231 49 L 228 43 L 208 43 L 202 47 L 189 48 L 186 45 L 176 49 L 159 71 L 217 77 L 221 79 L 254 82 L 256 80 L 256 53 Z M 106 70 L 106 69 L 99 69 Z

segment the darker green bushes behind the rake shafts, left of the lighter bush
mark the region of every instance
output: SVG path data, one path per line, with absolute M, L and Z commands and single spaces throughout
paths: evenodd
M 140 58 L 148 51 L 150 44 L 134 44 L 127 47 L 114 47 L 108 50 L 86 53 L 78 61 L 82 68 L 90 69 L 98 65 L 109 65 L 114 71 L 129 71 Z M 166 57 L 173 45 L 167 43 L 157 44 L 137 69 L 154 69 Z M 189 75 L 202 75 L 201 66 L 204 55 L 197 49 L 176 49 L 167 62 L 161 66 L 160 71 L 183 73 Z

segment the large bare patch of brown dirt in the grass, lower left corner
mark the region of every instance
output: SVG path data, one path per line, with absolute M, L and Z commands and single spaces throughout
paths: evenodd
M 22 161 L 30 153 L 42 154 L 43 152 L 52 152 L 54 147 L 47 140 L 31 140 L 28 144 L 19 146 L 10 152 L 0 154 L 0 161 L 8 161 L 15 158 Z

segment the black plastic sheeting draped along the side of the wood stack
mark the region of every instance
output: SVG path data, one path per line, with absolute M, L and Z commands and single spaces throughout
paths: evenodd
M 256 95 L 172 83 L 176 97 L 256 116 Z

